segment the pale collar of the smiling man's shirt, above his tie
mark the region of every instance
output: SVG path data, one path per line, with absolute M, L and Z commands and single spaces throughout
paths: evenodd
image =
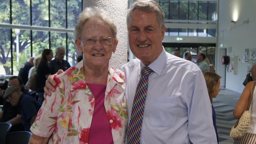
M 167 55 L 165 54 L 165 49 L 163 48 L 161 54 L 156 58 L 156 60 L 150 63 L 148 67 L 151 68 L 156 74 L 160 75 L 166 61 L 167 61 Z M 141 65 L 141 68 L 145 66 L 142 62 L 140 62 L 140 65 Z

